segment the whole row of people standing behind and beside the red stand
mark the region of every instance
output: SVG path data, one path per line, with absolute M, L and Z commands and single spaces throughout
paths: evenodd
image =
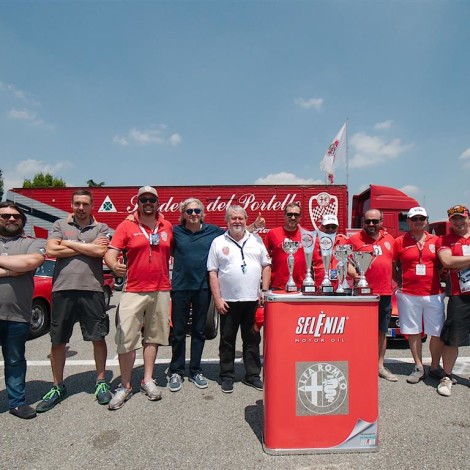
M 159 346 L 169 344 L 170 300 L 172 358 L 168 388 L 177 392 L 185 378 L 186 329 L 191 323 L 191 353 L 188 380 L 196 387 L 208 387 L 201 368 L 205 343 L 206 313 L 211 296 L 220 313 L 220 385 L 222 392 L 234 389 L 236 337 L 241 329 L 245 376 L 243 383 L 263 390 L 261 341 L 255 316 L 269 289 L 283 290 L 289 278 L 286 239 L 301 242 L 299 225 L 302 208 L 291 203 L 284 209 L 284 225 L 271 229 L 265 241 L 253 233 L 264 226 L 261 214 L 251 225 L 241 206 L 230 206 L 227 230 L 204 222 L 204 205 L 189 198 L 180 206 L 180 224 L 172 226 L 159 213 L 158 192 L 143 186 L 137 194 L 137 210 L 110 236 L 109 227 L 92 215 L 93 196 L 88 190 L 75 191 L 72 215 L 58 220 L 44 247 L 40 240 L 26 237 L 26 216 L 13 203 L 0 204 L 0 343 L 5 361 L 5 380 L 10 413 L 24 419 L 46 412 L 66 397 L 64 366 L 67 342 L 75 322 L 83 339 L 93 344 L 96 364 L 95 396 L 110 410 L 124 406 L 132 396 L 132 370 L 136 350 L 143 347 L 144 369 L 140 391 L 150 401 L 162 398 L 153 379 Z M 333 247 L 351 244 L 355 251 L 371 251 L 374 262 L 367 281 L 379 300 L 379 376 L 397 377 L 384 366 L 386 333 L 392 311 L 392 280 L 398 283 L 397 302 L 402 333 L 408 335 L 415 367 L 407 378 L 417 383 L 425 376 L 421 333 L 431 336 L 429 375 L 439 378 L 438 393 L 451 394 L 452 369 L 458 347 L 467 345 L 470 335 L 470 219 L 465 206 L 448 211 L 451 232 L 436 237 L 426 232 L 427 213 L 422 207 L 408 212 L 409 232 L 394 239 L 383 228 L 381 211 L 364 214 L 363 230 L 346 238 L 337 233 L 336 215 L 326 214 L 318 237 L 327 235 Z M 301 245 L 301 243 L 300 243 Z M 315 285 L 325 277 L 320 243 L 312 257 Z M 33 275 L 46 255 L 56 258 L 51 314 L 51 368 L 53 385 L 37 404 L 26 404 L 25 342 L 28 336 L 33 295 Z M 125 254 L 125 262 L 122 255 Z M 173 257 L 170 279 L 169 261 Z M 300 289 L 307 266 L 302 247 L 295 253 L 293 278 Z M 126 285 L 116 313 L 115 341 L 121 383 L 111 392 L 105 366 L 109 332 L 103 284 L 103 259 Z M 332 258 L 328 277 L 337 283 L 337 261 Z M 442 269 L 450 271 L 451 293 L 444 313 Z M 359 275 L 350 266 L 353 280 Z M 21 295 L 18 293 L 21 292 Z M 440 367 L 442 357 L 443 368 Z

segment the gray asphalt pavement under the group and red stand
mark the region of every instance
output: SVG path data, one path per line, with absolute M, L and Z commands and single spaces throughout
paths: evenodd
M 117 305 L 119 293 L 111 304 Z M 115 308 L 109 313 L 114 320 Z M 119 383 L 114 328 L 108 340 L 108 376 Z M 181 391 L 166 387 L 169 347 L 160 348 L 155 378 L 163 390 L 160 402 L 139 393 L 141 354 L 134 372 L 134 396 L 117 411 L 94 400 L 94 367 L 90 344 L 78 326 L 72 337 L 65 370 L 67 398 L 30 421 L 8 413 L 3 362 L 0 369 L 1 469 L 390 469 L 470 468 L 470 348 L 461 348 L 455 372 L 458 384 L 451 397 L 436 393 L 437 381 L 406 383 L 412 370 L 410 352 L 390 345 L 387 366 L 397 383 L 379 381 L 379 447 L 370 453 L 268 455 L 263 451 L 263 393 L 243 385 L 243 365 L 237 359 L 232 394 L 221 392 L 218 378 L 218 339 L 204 351 L 209 387 L 197 389 L 187 380 Z M 49 337 L 27 345 L 27 399 L 37 402 L 51 386 Z M 237 357 L 241 357 L 241 342 Z M 427 345 L 424 354 L 429 358 Z M 2 361 L 0 355 L 0 361 Z M 429 361 L 428 361 L 429 363 Z M 165 387 L 165 388 L 163 388 Z M 321 432 L 321 430 L 312 430 Z

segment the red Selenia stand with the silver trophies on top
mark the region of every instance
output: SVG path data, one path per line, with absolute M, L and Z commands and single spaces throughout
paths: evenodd
M 269 454 L 376 451 L 379 299 L 365 277 L 374 254 L 335 246 L 335 234 L 301 232 L 301 242 L 283 243 L 285 291 L 269 292 L 265 302 L 263 448 Z M 311 273 L 316 241 L 325 269 L 318 289 Z M 292 274 L 300 248 L 307 272 L 299 290 Z M 355 286 L 347 280 L 349 263 L 359 273 Z

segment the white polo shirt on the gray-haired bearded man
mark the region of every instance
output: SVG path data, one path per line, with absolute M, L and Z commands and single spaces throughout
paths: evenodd
M 225 301 L 247 302 L 258 300 L 261 271 L 270 264 L 261 238 L 245 232 L 243 239 L 236 241 L 225 232 L 211 244 L 207 270 L 218 273 L 220 294 Z

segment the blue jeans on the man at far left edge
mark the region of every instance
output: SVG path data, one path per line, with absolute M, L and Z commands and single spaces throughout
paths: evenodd
M 5 361 L 5 383 L 10 409 L 26 403 L 24 392 L 26 358 L 24 353 L 28 332 L 29 323 L 0 320 L 0 344 Z

